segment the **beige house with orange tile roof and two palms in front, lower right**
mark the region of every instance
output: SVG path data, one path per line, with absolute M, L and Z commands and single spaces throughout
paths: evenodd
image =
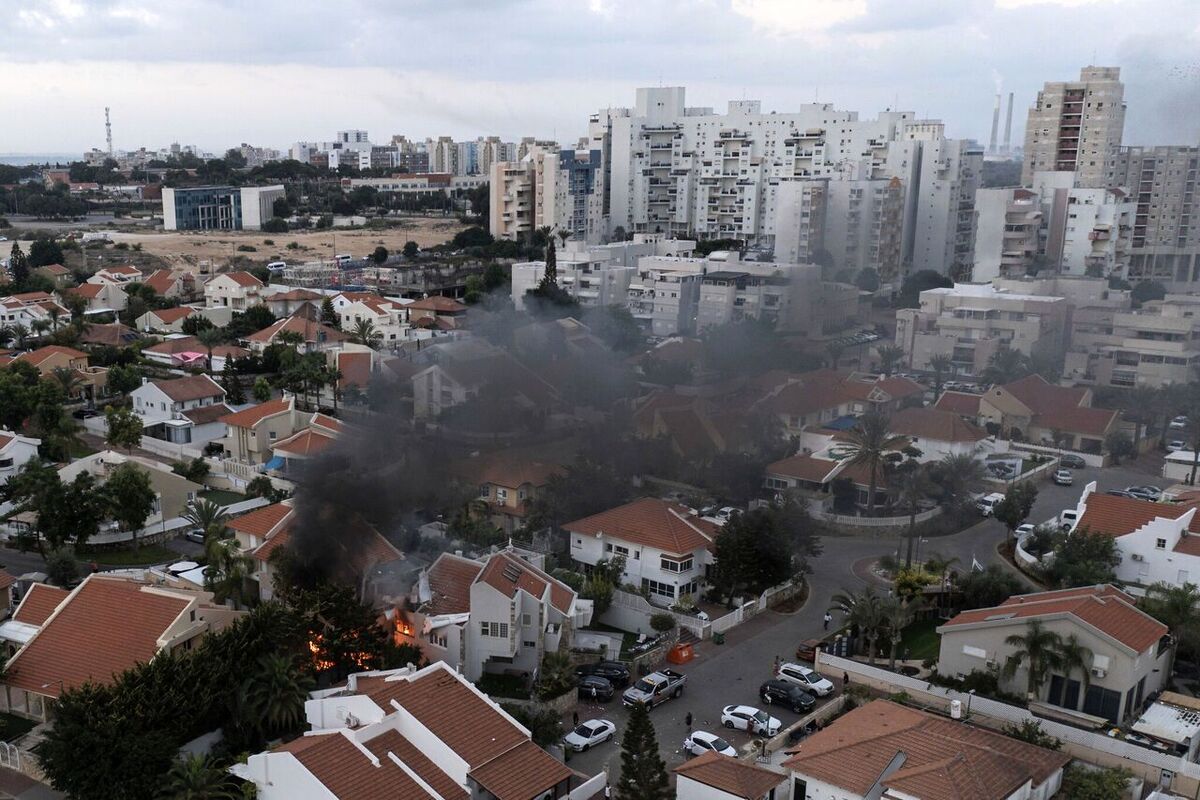
M 1037 621 L 1063 640 L 1086 649 L 1080 670 L 1052 667 L 1033 700 L 1102 717 L 1112 724 L 1136 720 L 1145 700 L 1170 679 L 1174 642 L 1166 626 L 1134 606 L 1116 587 L 1098 585 L 1009 597 L 994 608 L 965 610 L 943 622 L 937 668 L 943 675 L 996 672 L 1006 691 L 1025 693 L 1028 667 L 1003 667 L 1020 650 L 1009 639 Z

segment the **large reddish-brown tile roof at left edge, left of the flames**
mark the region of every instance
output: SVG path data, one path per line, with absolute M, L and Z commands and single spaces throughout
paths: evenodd
M 8 662 L 5 682 L 48 697 L 86 681 L 106 684 L 150 661 L 188 602 L 145 584 L 89 576 Z

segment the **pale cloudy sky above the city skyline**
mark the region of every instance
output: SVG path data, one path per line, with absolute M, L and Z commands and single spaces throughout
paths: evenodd
M 0 152 L 240 142 L 338 128 L 574 140 L 634 89 L 724 109 L 818 98 L 1014 140 L 1044 80 L 1117 65 L 1126 142 L 1200 143 L 1198 0 L 4 0 Z

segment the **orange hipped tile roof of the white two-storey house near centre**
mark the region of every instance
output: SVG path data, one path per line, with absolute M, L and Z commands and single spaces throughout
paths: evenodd
M 572 534 L 604 534 L 624 542 L 644 545 L 668 555 L 707 549 L 718 534 L 713 523 L 691 516 L 684 506 L 658 498 L 634 500 L 617 509 L 569 522 L 565 528 Z

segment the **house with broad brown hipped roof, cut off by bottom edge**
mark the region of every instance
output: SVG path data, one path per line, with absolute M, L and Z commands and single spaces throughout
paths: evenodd
M 1070 756 L 874 700 L 805 738 L 784 766 L 793 800 L 1050 800 Z

